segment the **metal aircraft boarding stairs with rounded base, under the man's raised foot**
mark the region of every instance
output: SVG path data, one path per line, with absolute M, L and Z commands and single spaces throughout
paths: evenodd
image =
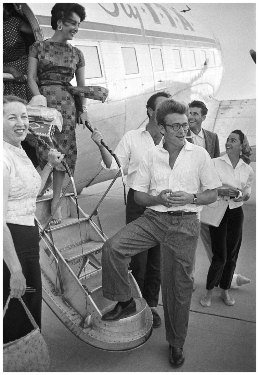
M 78 219 L 74 193 L 63 196 L 62 222 L 41 232 L 50 217 L 52 197 L 45 194 L 36 202 L 43 300 L 89 345 L 123 351 L 144 344 L 152 333 L 152 313 L 130 270 L 136 314 L 114 322 L 101 320 L 116 304 L 102 296 L 101 254 L 107 237 L 80 207 Z

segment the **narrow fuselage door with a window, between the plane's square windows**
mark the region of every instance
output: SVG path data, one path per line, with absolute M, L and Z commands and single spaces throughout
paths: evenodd
M 152 52 L 152 49 L 158 49 L 161 52 L 161 54 L 157 52 L 157 57 L 155 57 L 154 53 Z M 153 71 L 153 77 L 154 77 L 154 89 L 155 91 L 167 89 L 163 47 L 161 45 L 149 44 L 149 53 L 150 53 L 152 71 Z M 160 60 L 160 57 L 161 57 L 161 60 Z M 157 60 L 155 60 L 156 58 Z M 161 64 L 163 65 L 163 70 L 157 70 L 159 69 L 159 65 L 161 66 Z

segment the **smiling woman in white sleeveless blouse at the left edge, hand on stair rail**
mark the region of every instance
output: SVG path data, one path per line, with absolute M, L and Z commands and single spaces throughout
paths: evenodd
M 3 97 L 3 306 L 11 300 L 3 320 L 3 342 L 13 341 L 31 330 L 18 301 L 21 296 L 41 328 L 41 270 L 39 229 L 35 221 L 36 197 L 53 167 L 63 155 L 51 150 L 48 163 L 38 174 L 21 147 L 29 120 L 23 99 Z M 35 289 L 26 293 L 26 286 Z M 13 298 L 15 297 L 15 298 Z

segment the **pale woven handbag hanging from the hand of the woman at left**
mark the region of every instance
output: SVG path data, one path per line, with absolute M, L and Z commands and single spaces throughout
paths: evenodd
M 3 310 L 8 308 L 10 296 Z M 47 344 L 27 306 L 20 299 L 34 329 L 22 338 L 3 344 L 3 372 L 44 372 L 50 366 Z

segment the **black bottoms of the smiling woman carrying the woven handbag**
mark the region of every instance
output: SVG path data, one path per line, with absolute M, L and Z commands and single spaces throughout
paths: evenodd
M 39 229 L 35 226 L 8 224 L 14 241 L 26 286 L 35 288 L 33 293 L 26 292 L 23 301 L 41 329 L 42 284 L 39 266 Z M 3 262 L 3 308 L 10 294 L 10 272 Z M 17 298 L 12 298 L 3 319 L 3 342 L 17 340 L 33 330 L 32 323 L 23 305 Z

